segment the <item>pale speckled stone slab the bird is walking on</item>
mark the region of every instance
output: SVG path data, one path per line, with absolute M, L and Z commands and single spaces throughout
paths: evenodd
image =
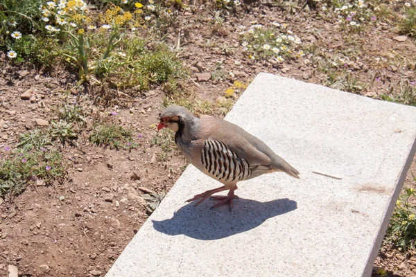
M 230 213 L 184 203 L 220 185 L 189 166 L 107 277 L 370 276 L 415 154 L 416 108 L 260 73 L 226 120 L 301 179 L 241 182 Z

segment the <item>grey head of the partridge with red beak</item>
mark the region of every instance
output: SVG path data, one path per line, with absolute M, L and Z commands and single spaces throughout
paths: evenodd
M 162 114 L 160 114 L 160 123 L 157 125 L 157 131 L 164 127 L 168 127 L 173 130 L 173 132 L 177 132 L 180 129 L 180 126 L 183 126 L 184 122 L 191 118 L 193 118 L 193 114 L 184 107 L 175 105 L 169 106 L 162 111 Z

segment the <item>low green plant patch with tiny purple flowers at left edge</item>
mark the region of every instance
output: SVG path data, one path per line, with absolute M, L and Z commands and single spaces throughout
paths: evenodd
M 55 150 L 8 150 L 0 157 L 0 194 L 19 195 L 29 184 L 53 184 L 66 176 Z

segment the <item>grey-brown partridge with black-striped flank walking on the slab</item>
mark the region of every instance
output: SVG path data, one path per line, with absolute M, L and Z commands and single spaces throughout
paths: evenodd
M 160 114 L 157 130 L 164 127 L 175 132 L 177 148 L 193 166 L 224 185 L 187 200 L 198 200 L 195 206 L 211 197 L 220 200 L 211 208 L 228 204 L 231 209 L 233 199 L 238 199 L 237 183 L 266 173 L 286 172 L 299 179 L 299 172 L 266 143 L 228 121 L 197 117 L 184 107 L 170 106 Z M 229 190 L 227 196 L 211 196 L 223 190 Z

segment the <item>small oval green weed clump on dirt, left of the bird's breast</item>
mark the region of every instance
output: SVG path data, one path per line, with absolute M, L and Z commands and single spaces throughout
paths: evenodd
M 96 125 L 89 136 L 89 141 L 96 145 L 110 147 L 110 149 L 119 149 L 122 144 L 130 148 L 137 146 L 132 143 L 132 132 L 116 124 Z

